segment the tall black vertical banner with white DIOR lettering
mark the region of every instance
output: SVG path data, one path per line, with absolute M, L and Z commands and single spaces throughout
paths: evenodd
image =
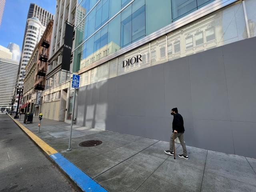
M 70 59 L 71 59 L 72 44 L 73 44 L 73 31 L 74 31 L 74 26 L 71 26 L 70 24 L 66 23 L 61 68 L 67 71 L 70 70 Z

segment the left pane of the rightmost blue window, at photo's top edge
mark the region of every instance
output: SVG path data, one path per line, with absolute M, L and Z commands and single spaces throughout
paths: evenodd
M 172 0 L 172 18 L 177 20 L 197 10 L 196 0 Z

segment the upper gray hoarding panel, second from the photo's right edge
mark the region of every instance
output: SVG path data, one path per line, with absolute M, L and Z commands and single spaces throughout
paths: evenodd
M 193 118 L 229 120 L 222 48 L 188 56 Z

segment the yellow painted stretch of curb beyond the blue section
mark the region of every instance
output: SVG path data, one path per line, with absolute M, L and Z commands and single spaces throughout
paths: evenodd
M 9 114 L 8 114 L 9 115 Z M 10 115 L 9 115 L 10 116 Z M 10 116 L 12 118 L 12 116 Z M 22 125 L 20 122 L 12 118 L 12 120 L 42 149 L 44 152 L 46 152 L 48 155 L 57 153 L 57 151 L 52 148 L 50 145 L 48 145 L 46 142 L 44 142 L 42 139 L 40 139 L 38 136 L 36 136 L 34 133 L 32 133 L 28 128 L 26 128 L 24 125 Z

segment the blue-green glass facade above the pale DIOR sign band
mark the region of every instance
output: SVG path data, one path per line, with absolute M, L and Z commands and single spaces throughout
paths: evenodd
M 213 0 L 82 0 L 73 71 L 114 54 Z M 78 1 L 79 3 L 79 1 Z

